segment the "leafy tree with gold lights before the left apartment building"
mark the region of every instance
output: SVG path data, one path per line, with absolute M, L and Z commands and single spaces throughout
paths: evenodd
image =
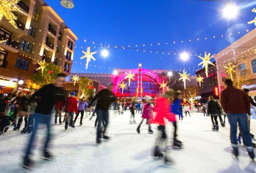
M 33 83 L 38 84 L 39 86 L 44 86 L 46 84 L 51 84 L 54 82 L 58 73 L 61 73 L 62 70 L 58 65 L 52 63 L 46 63 L 44 70 L 38 70 L 32 77 Z

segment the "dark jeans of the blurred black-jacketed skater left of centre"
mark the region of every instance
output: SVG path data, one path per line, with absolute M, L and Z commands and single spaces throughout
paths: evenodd
M 104 133 L 107 130 L 107 125 L 109 124 L 109 111 L 108 110 L 102 110 L 102 109 L 97 109 L 97 119 L 98 119 L 98 126 L 97 126 L 97 138 L 101 138 L 101 133 L 102 133 L 102 126 L 101 124 L 105 122 L 105 128 L 103 130 L 103 136 Z

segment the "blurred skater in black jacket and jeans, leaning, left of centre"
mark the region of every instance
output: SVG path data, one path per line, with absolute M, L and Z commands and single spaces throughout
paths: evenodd
M 101 143 L 101 138 L 109 139 L 108 136 L 105 135 L 107 126 L 109 124 L 109 105 L 114 102 L 116 105 L 116 98 L 113 94 L 113 84 L 110 83 L 107 89 L 102 89 L 97 93 L 95 98 L 92 100 L 90 104 L 93 104 L 97 101 L 96 113 L 98 118 L 98 126 L 97 126 L 97 138 L 96 143 Z M 90 105 L 89 105 L 90 106 Z M 102 131 L 102 122 L 105 122 L 104 130 Z M 103 135 L 103 136 L 102 136 Z

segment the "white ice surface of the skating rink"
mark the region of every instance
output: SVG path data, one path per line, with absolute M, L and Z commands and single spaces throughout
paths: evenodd
M 167 124 L 168 157 L 173 160 L 166 165 L 160 159 L 152 157 L 157 135 L 156 126 L 153 134 L 148 134 L 148 126 L 142 124 L 141 133 L 136 128 L 141 115 L 135 115 L 137 124 L 130 124 L 130 111 L 118 115 L 110 111 L 107 135 L 111 138 L 97 145 L 95 140 L 95 117 L 83 119 L 83 126 L 76 121 L 76 128 L 64 131 L 64 124 L 52 125 L 53 161 L 40 158 L 45 127 L 41 126 L 33 150 L 32 171 L 20 166 L 24 148 L 30 134 L 9 131 L 0 136 L 0 173 L 244 173 L 256 172 L 256 163 L 249 158 L 246 148 L 239 146 L 239 161 L 231 154 L 229 139 L 230 126 L 220 126 L 218 132 L 212 131 L 210 117 L 201 113 L 192 113 L 178 121 L 178 139 L 183 142 L 183 149 L 177 150 L 172 145 L 172 124 Z M 52 120 L 53 122 L 53 120 Z M 251 133 L 256 135 L 256 120 L 251 120 Z M 255 142 L 255 140 L 253 140 Z

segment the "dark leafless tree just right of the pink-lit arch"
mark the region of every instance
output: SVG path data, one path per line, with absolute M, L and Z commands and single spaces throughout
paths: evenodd
M 168 88 L 173 89 L 174 91 L 183 90 L 183 82 L 180 79 L 180 75 L 178 71 L 173 71 L 172 76 L 167 76 L 166 72 L 161 72 L 159 77 L 162 81 L 166 81 Z

